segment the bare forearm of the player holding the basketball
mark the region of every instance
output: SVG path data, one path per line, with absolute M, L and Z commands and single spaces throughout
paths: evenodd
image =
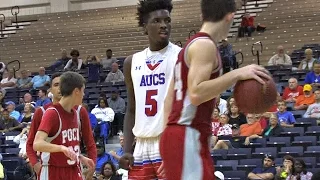
M 194 90 L 189 90 L 191 103 L 198 106 L 217 97 L 237 82 L 238 74 L 239 71 L 236 69 L 216 79 L 199 83 Z

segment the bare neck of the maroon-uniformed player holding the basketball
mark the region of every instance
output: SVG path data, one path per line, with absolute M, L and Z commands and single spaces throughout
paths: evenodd
M 223 34 L 225 34 L 225 32 L 223 32 L 220 28 L 222 26 L 223 24 L 221 24 L 221 22 L 218 22 L 218 23 L 204 22 L 202 24 L 200 32 L 207 33 L 211 37 L 211 39 L 214 40 L 215 43 L 217 44 L 223 39 L 223 36 L 224 36 Z

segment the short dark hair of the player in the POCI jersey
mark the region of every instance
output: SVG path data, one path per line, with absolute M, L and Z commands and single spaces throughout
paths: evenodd
M 74 89 L 81 89 L 86 83 L 86 80 L 79 73 L 65 72 L 60 79 L 60 92 L 62 96 L 70 96 Z

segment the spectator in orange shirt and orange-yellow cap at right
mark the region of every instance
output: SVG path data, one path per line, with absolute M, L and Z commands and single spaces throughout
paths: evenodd
M 315 102 L 314 94 L 312 93 L 312 86 L 305 84 L 303 86 L 303 95 L 298 96 L 294 105 L 295 110 L 307 110 L 308 106 Z

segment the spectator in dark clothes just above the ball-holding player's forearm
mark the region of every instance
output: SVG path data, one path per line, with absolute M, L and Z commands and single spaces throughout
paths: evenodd
M 220 56 L 223 64 L 223 72 L 227 73 L 236 67 L 236 58 L 232 51 L 232 45 L 228 43 L 228 39 L 222 40 L 222 44 L 219 46 Z

